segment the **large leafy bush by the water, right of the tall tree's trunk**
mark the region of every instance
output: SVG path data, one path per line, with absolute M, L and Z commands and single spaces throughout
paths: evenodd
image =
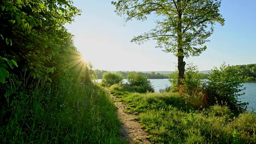
M 242 86 L 236 71 L 228 69 L 224 63 L 220 69 L 214 67 L 203 87 L 208 96 L 208 104 L 228 106 L 233 111 L 242 112 L 248 104 L 238 100 L 238 96 L 244 94 L 242 90 L 245 88 Z

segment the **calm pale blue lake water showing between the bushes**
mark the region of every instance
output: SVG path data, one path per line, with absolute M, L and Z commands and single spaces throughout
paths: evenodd
M 101 82 L 101 79 L 97 80 Z M 172 84 L 168 79 L 150 79 L 152 85 L 154 86 L 155 92 L 159 92 L 159 89 L 164 89 L 166 86 L 171 86 Z M 128 82 L 126 79 L 123 80 L 123 83 Z M 256 109 L 256 83 L 243 83 L 243 87 L 246 87 L 246 90 L 243 92 L 244 95 L 240 96 L 242 102 L 249 102 L 247 110 Z

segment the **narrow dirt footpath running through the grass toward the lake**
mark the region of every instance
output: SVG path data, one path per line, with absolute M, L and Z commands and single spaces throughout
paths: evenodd
M 116 102 L 116 96 L 113 96 L 110 92 L 108 92 L 108 94 L 118 108 L 117 115 L 121 121 L 120 132 L 122 140 L 129 140 L 130 144 L 151 144 L 147 139 L 146 132 L 141 128 L 140 123 L 134 120 L 138 116 L 125 113 L 124 111 L 127 108 L 127 104 L 124 102 Z

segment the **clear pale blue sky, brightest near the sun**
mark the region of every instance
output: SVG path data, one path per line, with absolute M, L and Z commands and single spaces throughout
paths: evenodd
M 117 1 L 117 0 L 116 0 Z M 73 0 L 82 10 L 75 22 L 66 24 L 74 35 L 74 44 L 94 69 L 107 71 L 174 71 L 177 58 L 155 48 L 156 42 L 138 45 L 134 36 L 155 27 L 154 16 L 145 22 L 132 20 L 124 26 L 111 0 Z M 230 65 L 256 63 L 256 0 L 222 0 L 220 14 L 225 25 L 214 26 L 208 47 L 200 56 L 184 59 L 198 70 L 211 70 L 223 62 Z

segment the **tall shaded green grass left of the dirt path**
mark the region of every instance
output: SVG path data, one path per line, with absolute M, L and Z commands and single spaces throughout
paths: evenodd
M 0 110 L 0 143 L 122 144 L 116 107 L 104 89 L 65 86 L 9 89 L 9 105 Z

